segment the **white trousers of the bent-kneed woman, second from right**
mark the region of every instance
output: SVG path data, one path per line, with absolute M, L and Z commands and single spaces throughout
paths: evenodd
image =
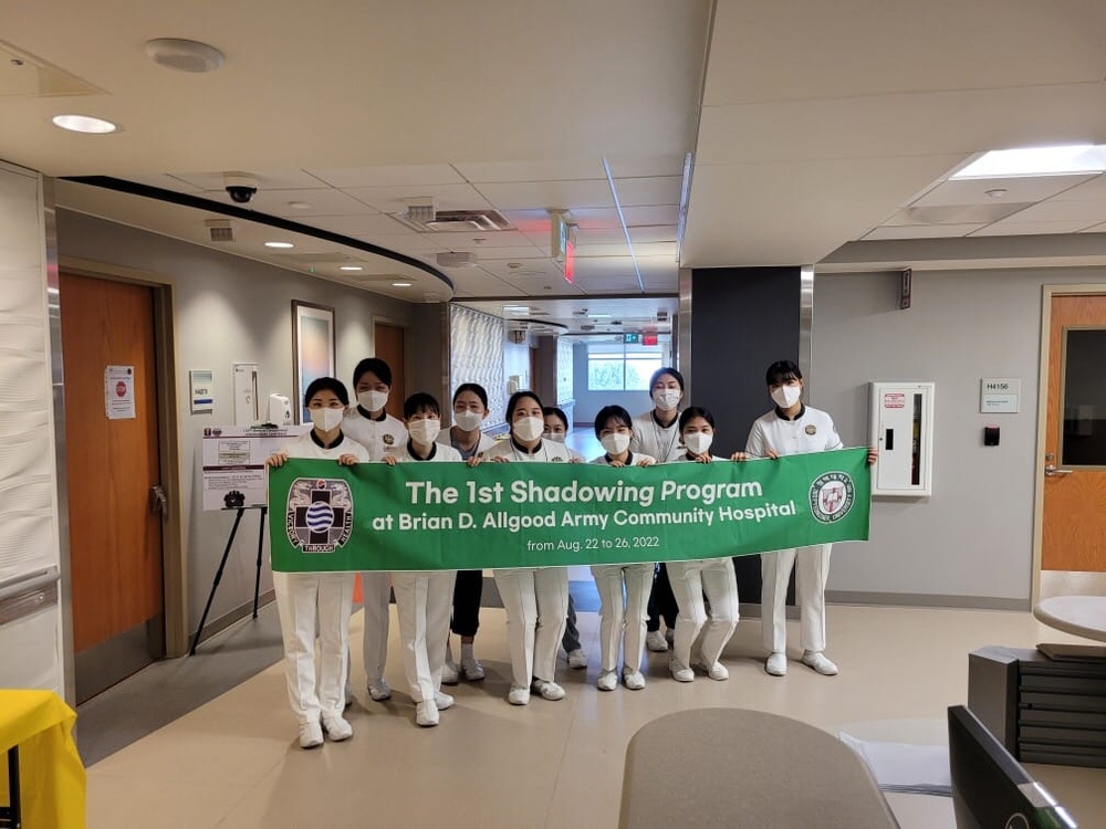
M 691 646 L 700 632 L 702 660 L 708 667 L 712 665 L 722 655 L 722 649 L 738 627 L 738 581 L 733 575 L 733 559 L 669 562 L 667 569 L 672 595 L 680 609 L 672 641 L 672 668 L 691 667 Z M 703 592 L 710 600 L 710 619 L 707 618 Z

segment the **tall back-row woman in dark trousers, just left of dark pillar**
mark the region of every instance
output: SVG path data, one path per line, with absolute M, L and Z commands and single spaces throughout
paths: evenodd
M 684 399 L 684 375 L 670 366 L 658 368 L 649 379 L 649 396 L 653 409 L 634 418 L 629 451 L 650 455 L 659 463 L 665 463 L 669 457 L 676 457 L 680 451 L 679 406 Z M 649 594 L 645 644 L 650 651 L 664 653 L 668 650 L 676 631 L 677 612 L 668 568 L 660 564 Z M 661 620 L 668 628 L 667 634 L 660 630 Z

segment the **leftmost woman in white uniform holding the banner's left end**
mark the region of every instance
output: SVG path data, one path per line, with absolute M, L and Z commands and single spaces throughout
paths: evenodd
M 344 466 L 367 463 L 366 449 L 342 431 L 349 396 L 341 380 L 321 377 L 304 393 L 312 428 L 290 441 L 268 460 L 282 466 L 289 458 L 336 461 Z M 323 731 L 341 742 L 353 736 L 342 711 L 343 685 L 348 672 L 352 573 L 273 573 L 276 613 L 284 642 L 284 679 L 288 697 L 300 724 L 300 747 L 323 743 Z M 315 679 L 315 620 L 320 642 L 319 679 Z

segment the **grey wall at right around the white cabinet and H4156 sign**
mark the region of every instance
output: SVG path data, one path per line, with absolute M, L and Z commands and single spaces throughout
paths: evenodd
M 915 271 L 899 311 L 897 272 L 817 276 L 811 402 L 846 445 L 868 442 L 869 381 L 937 384 L 932 497 L 876 500 L 872 539 L 835 548 L 831 591 L 1027 605 L 1041 288 L 1085 282 L 1106 271 Z M 1020 378 L 1021 412 L 980 414 L 984 377 Z M 983 447 L 985 423 L 1000 445 Z

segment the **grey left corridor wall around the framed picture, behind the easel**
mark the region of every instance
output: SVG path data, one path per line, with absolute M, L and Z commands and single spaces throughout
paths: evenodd
M 295 298 L 335 308 L 338 378 L 348 387 L 356 363 L 373 354 L 374 315 L 408 324 L 414 306 L 67 211 L 59 211 L 58 235 L 63 265 L 80 260 L 133 269 L 152 282 L 173 286 L 181 543 L 187 560 L 191 631 L 199 622 L 233 523 L 231 513 L 202 511 L 199 457 L 204 427 L 233 423 L 231 365 L 259 363 L 264 392 L 292 393 L 291 301 Z M 64 297 L 62 308 L 64 313 Z M 427 330 L 426 336 L 436 336 L 440 342 L 440 323 L 431 316 L 428 328 L 431 324 L 438 330 Z M 418 336 L 418 332 L 414 334 Z M 188 370 L 194 368 L 215 372 L 213 413 L 190 412 Z M 416 386 L 419 381 L 414 378 Z M 242 521 L 208 625 L 252 601 L 257 522 L 253 513 Z M 261 589 L 271 587 L 267 565 Z

